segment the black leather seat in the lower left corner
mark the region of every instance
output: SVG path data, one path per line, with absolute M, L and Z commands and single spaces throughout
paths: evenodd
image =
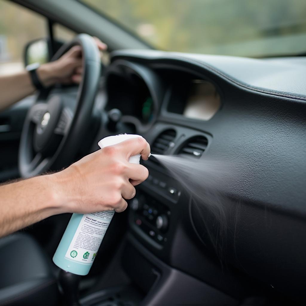
M 48 257 L 29 235 L 0 240 L 0 271 L 0 305 L 57 304 L 58 287 Z

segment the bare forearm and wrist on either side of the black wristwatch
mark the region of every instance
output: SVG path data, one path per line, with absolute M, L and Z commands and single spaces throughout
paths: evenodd
M 50 86 L 54 83 L 51 72 L 49 64 L 41 65 L 37 69 L 39 79 L 44 86 Z M 35 87 L 32 84 L 29 72 L 26 70 L 14 75 L 0 76 L 0 110 L 9 107 L 34 91 Z

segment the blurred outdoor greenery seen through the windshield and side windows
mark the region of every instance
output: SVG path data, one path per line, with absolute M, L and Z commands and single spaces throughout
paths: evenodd
M 162 50 L 250 57 L 306 53 L 305 0 L 83 2 Z M 59 24 L 54 30 L 63 41 L 75 35 Z M 45 17 L 0 0 L 0 74 L 22 69 L 24 46 L 46 36 Z

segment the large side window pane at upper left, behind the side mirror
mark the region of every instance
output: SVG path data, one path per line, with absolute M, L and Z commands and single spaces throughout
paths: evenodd
M 21 71 L 25 45 L 46 36 L 45 17 L 13 2 L 0 0 L 0 75 Z

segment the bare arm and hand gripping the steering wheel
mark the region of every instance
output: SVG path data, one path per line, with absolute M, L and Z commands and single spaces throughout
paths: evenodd
M 95 38 L 100 50 L 106 50 L 106 45 Z M 79 83 L 82 71 L 81 48 L 75 46 L 65 53 L 57 61 L 41 65 L 37 69 L 37 75 L 41 83 L 51 86 L 55 82 Z M 32 84 L 28 71 L 23 71 L 10 76 L 0 76 L 0 110 L 12 105 L 32 94 L 35 87 Z

